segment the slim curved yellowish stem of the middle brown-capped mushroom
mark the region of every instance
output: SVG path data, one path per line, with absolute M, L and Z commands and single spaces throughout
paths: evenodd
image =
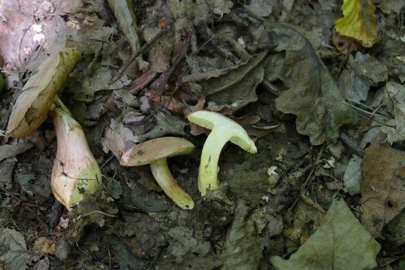
M 156 182 L 177 206 L 185 210 L 191 210 L 194 208 L 193 200 L 177 183 L 176 179 L 174 179 L 170 172 L 167 158 L 158 159 L 149 165 Z

